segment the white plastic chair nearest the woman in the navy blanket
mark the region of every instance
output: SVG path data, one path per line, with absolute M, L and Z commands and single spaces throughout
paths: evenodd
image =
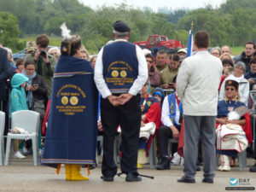
M 8 133 L 4 165 L 9 165 L 9 159 L 11 159 L 9 158 L 9 154 L 13 151 L 13 139 L 32 139 L 34 166 L 38 166 L 38 130 L 40 113 L 30 110 L 16 111 L 12 113 L 11 121 L 12 129 L 14 127 L 23 128 L 28 134 Z

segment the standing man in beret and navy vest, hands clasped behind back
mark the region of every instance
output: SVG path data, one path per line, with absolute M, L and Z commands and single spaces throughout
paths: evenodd
M 95 82 L 102 94 L 103 127 L 102 179 L 113 181 L 117 166 L 113 161 L 113 141 L 121 127 L 121 172 L 125 181 L 141 181 L 137 172 L 137 148 L 141 125 L 140 91 L 148 79 L 148 67 L 143 50 L 128 42 L 131 29 L 118 20 L 113 24 L 112 43 L 98 54 Z

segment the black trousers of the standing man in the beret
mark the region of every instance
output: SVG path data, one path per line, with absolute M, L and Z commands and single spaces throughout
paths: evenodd
M 141 96 L 132 96 L 129 102 L 119 107 L 113 107 L 108 99 L 102 99 L 101 117 L 103 127 L 103 160 L 102 175 L 113 177 L 117 165 L 113 161 L 113 142 L 117 128 L 121 127 L 122 158 L 121 172 L 137 174 L 137 148 L 141 126 Z

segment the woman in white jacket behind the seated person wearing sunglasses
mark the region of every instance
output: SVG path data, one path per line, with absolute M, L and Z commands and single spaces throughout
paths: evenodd
M 224 100 L 224 97 L 225 97 L 224 84 L 225 84 L 225 81 L 231 79 L 231 80 L 236 80 L 236 82 L 238 82 L 239 84 L 238 90 L 241 96 L 240 102 L 243 102 L 247 105 L 249 91 L 250 91 L 250 84 L 247 81 L 247 79 L 245 79 L 243 76 L 243 73 L 246 72 L 246 70 L 247 70 L 247 67 L 243 62 L 241 61 L 236 62 L 236 65 L 234 67 L 234 74 L 231 74 L 229 77 L 224 79 L 224 83 L 222 84 L 221 89 L 219 91 L 218 100 Z

